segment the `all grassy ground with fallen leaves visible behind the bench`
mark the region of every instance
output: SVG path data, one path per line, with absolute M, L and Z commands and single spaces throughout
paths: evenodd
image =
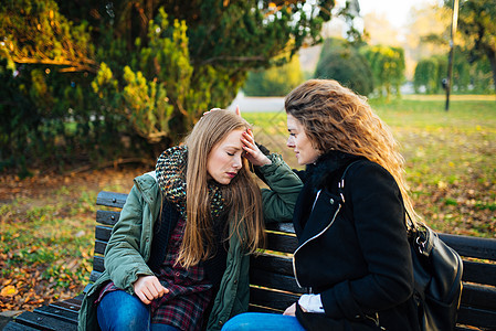
M 496 237 L 496 103 L 371 102 L 393 129 L 407 160 L 418 212 L 440 232 Z M 283 153 L 285 115 L 252 114 L 258 142 Z M 32 310 L 81 293 L 92 270 L 96 195 L 128 192 L 150 169 L 123 166 L 21 180 L 0 173 L 0 310 Z

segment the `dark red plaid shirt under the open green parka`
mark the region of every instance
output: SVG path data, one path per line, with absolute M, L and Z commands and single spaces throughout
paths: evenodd
M 201 330 L 203 312 L 212 299 L 212 284 L 205 279 L 201 264 L 188 270 L 175 265 L 184 225 L 184 218 L 179 217 L 170 236 L 167 254 L 157 276 L 169 292 L 151 301 L 151 323 L 168 324 L 180 330 Z M 104 286 L 96 301 L 99 302 L 106 292 L 113 290 L 118 288 L 110 281 Z

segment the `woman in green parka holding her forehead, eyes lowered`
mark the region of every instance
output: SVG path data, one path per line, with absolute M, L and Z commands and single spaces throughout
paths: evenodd
M 135 179 L 78 330 L 220 330 L 246 311 L 249 253 L 263 244 L 263 221 L 291 220 L 302 189 L 249 129 L 236 114 L 207 113 L 183 146 Z M 263 160 L 272 190 L 261 192 L 245 153 Z

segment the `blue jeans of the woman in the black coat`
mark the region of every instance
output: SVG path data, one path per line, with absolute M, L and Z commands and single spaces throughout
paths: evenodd
M 245 312 L 230 319 L 222 331 L 305 331 L 294 316 L 278 313 Z

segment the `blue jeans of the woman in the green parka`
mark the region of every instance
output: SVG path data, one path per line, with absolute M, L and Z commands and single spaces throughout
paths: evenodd
M 150 323 L 150 308 L 123 290 L 106 293 L 96 308 L 96 317 L 103 331 L 178 331 L 166 324 Z

